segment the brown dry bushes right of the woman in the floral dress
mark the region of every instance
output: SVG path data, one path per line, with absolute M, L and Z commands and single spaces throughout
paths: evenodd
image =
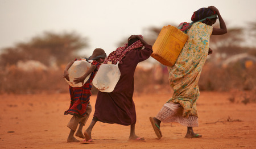
M 199 80 L 200 90 L 229 91 L 256 89 L 256 65 L 244 68 L 239 63 L 226 68 L 205 64 Z

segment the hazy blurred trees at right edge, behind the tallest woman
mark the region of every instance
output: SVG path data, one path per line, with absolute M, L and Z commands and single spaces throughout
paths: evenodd
M 249 23 L 247 28 L 228 28 L 225 35 L 210 36 L 210 47 L 214 53 L 209 56 L 210 60 L 220 62 L 240 53 L 256 56 L 255 31 L 256 22 Z

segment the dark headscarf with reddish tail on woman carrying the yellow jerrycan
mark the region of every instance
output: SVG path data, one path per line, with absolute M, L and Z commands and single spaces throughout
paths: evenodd
M 201 8 L 193 13 L 193 15 L 191 16 L 191 20 L 192 20 L 191 23 L 187 23 L 187 22 L 180 23 L 177 28 L 187 33 L 187 30 L 191 28 L 193 23 L 196 23 L 196 22 L 205 23 L 206 19 L 213 19 L 213 18 L 217 18 L 217 14 L 215 11 L 208 8 Z

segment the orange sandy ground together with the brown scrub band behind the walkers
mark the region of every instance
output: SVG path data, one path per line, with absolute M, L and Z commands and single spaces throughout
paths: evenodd
M 0 72 L 0 148 L 255 148 L 256 66 L 228 68 L 205 64 L 197 102 L 200 139 L 184 139 L 186 127 L 178 123 L 162 125 L 163 138 L 156 139 L 148 117 L 155 116 L 172 96 L 168 72 L 141 69 L 135 72 L 134 102 L 136 133 L 144 142 L 128 142 L 130 128 L 97 123 L 96 144 L 67 143 L 66 127 L 71 115 L 64 66 L 55 70 L 24 72 L 11 65 Z M 93 88 L 94 110 L 97 90 Z M 93 113 L 93 112 L 92 112 Z M 90 116 L 84 130 L 92 120 Z M 81 140 L 81 139 L 80 139 Z

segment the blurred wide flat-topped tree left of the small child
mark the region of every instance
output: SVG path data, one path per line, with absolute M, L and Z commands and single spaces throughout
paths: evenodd
M 16 64 L 19 60 L 38 60 L 48 66 L 52 63 L 67 64 L 77 56 L 80 49 L 87 46 L 86 38 L 76 32 L 44 32 L 42 36 L 35 36 L 27 43 L 4 48 L 0 55 L 0 64 L 2 68 Z

